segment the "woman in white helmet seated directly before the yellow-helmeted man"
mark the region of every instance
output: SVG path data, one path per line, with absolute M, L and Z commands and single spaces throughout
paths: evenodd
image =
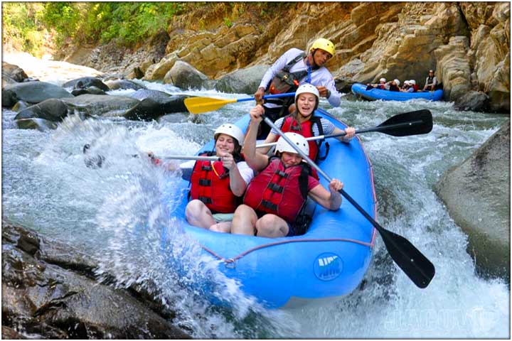
M 340 134 L 343 130 L 336 128 L 330 121 L 321 117 L 314 116 L 314 111 L 319 106 L 319 91 L 313 85 L 306 83 L 301 85 L 295 92 L 295 111 L 287 117 L 282 117 L 275 121 L 283 132 L 294 131 L 304 137 L 321 136 L 329 134 Z M 264 112 L 261 106 L 255 107 L 255 114 Z M 347 127 L 344 131 L 345 136 L 338 137 L 338 140 L 350 142 L 356 130 Z M 265 143 L 279 141 L 277 131 L 272 129 L 265 140 Z M 319 157 L 319 148 L 321 141 L 309 141 L 309 158 L 316 161 Z M 269 148 L 260 148 L 261 153 L 267 153 Z

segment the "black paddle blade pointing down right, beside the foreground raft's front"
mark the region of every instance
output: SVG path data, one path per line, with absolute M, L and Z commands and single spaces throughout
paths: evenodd
M 427 288 L 432 278 L 434 278 L 434 264 L 420 250 L 416 249 L 411 242 L 399 234 L 390 232 L 382 227 L 378 229 L 378 232 L 380 232 L 380 237 L 382 237 L 391 258 L 400 266 L 400 269 L 405 272 L 416 286 Z

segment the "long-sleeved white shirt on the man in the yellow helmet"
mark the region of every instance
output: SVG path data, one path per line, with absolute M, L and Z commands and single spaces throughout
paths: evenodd
M 260 87 L 267 88 L 267 85 L 269 82 L 274 78 L 275 75 L 277 75 L 277 72 L 283 69 L 289 62 L 294 60 L 294 58 L 297 57 L 300 53 L 303 53 L 304 51 L 299 50 L 298 48 L 290 48 L 285 52 L 279 59 L 276 60 L 274 64 L 272 64 L 271 67 L 265 72 L 265 75 L 263 75 L 262 81 L 260 82 Z M 295 65 L 292 65 L 290 67 L 289 72 L 297 72 L 307 70 L 307 65 L 304 62 L 304 59 L 299 60 Z M 303 85 L 306 82 L 307 77 L 304 77 L 299 84 Z M 330 92 L 331 96 L 327 99 L 329 101 L 329 104 L 331 104 L 333 107 L 339 107 L 341 103 L 341 94 L 336 90 L 336 87 L 334 86 L 334 78 L 331 75 L 331 72 L 327 70 L 326 67 L 322 66 L 317 70 L 311 70 L 311 85 L 314 86 L 324 86 L 326 87 Z M 277 107 L 276 104 L 267 103 L 265 104 L 267 107 Z

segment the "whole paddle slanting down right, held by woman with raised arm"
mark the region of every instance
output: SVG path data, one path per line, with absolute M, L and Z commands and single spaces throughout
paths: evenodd
M 330 183 L 331 178 L 324 171 L 316 166 L 316 164 L 309 158 L 305 153 L 303 153 L 298 146 L 296 146 L 288 136 L 284 135 L 284 133 L 277 128 L 277 126 L 267 117 L 263 116 L 265 122 L 271 126 L 273 129 L 277 131 L 279 136 L 287 141 L 287 143 L 292 146 L 297 153 L 299 153 L 309 166 L 316 169 L 316 171 L 322 175 L 326 180 Z M 378 222 L 368 215 L 368 213 L 361 207 L 356 200 L 348 195 L 343 189 L 339 190 L 339 193 L 346 197 L 346 199 L 351 202 L 351 204 L 356 207 L 356 209 L 361 212 L 361 214 L 368 219 L 371 224 L 377 229 L 380 234 L 380 237 L 383 239 L 386 249 L 388 249 L 388 253 L 395 263 L 400 266 L 400 269 L 405 272 L 405 274 L 413 281 L 416 286 L 420 288 L 426 288 L 435 274 L 434 264 L 432 264 L 427 257 L 425 257 L 414 245 L 411 244 L 407 239 L 400 236 L 399 234 L 395 234 L 393 232 L 388 231 L 384 227 L 381 227 Z

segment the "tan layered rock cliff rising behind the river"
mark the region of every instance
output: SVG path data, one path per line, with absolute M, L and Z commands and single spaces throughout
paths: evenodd
M 337 80 L 396 77 L 422 86 L 432 68 L 444 85 L 445 100 L 485 94 L 488 110 L 510 112 L 508 2 L 277 4 L 273 13 L 258 12 L 256 4 L 205 4 L 174 17 L 166 33 L 138 51 L 117 53 L 112 60 L 107 58 L 112 46 L 98 47 L 87 65 L 171 82 L 166 75 L 181 60 L 217 79 L 236 69 L 270 64 L 289 48 L 306 48 L 325 37 L 336 45 L 328 67 Z

